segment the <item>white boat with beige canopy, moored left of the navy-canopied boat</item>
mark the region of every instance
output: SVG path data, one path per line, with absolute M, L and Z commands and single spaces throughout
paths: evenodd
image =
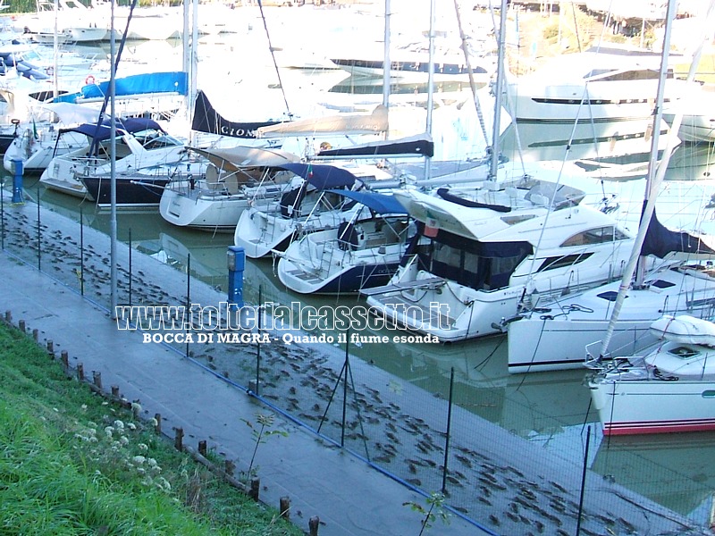
M 293 175 L 280 166 L 299 161 L 280 149 L 191 150 L 210 161 L 206 176 L 172 180 L 162 193 L 159 214 L 174 225 L 198 230 L 233 232 L 250 205 L 282 194 Z

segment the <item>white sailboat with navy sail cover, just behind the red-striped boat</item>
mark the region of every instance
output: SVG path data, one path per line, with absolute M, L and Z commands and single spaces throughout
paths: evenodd
M 664 41 L 667 54 L 668 42 Z M 697 62 L 694 62 L 696 64 Z M 666 66 L 661 68 L 664 86 Z M 656 100 L 654 125 L 660 124 L 663 89 Z M 677 145 L 676 128 L 669 133 L 669 143 L 656 173 L 660 130 L 653 130 L 649 163 L 649 185 L 646 189 L 641 236 L 630 256 L 634 264 L 628 279 L 588 290 L 580 295 L 562 297 L 544 306 L 537 301 L 524 304 L 522 310 L 506 317 L 502 325 L 508 331 L 509 372 L 527 373 L 545 370 L 580 368 L 584 348 L 596 340 L 610 340 L 609 356 L 625 356 L 652 343 L 648 336 L 651 323 L 662 314 L 708 316 L 715 312 L 715 245 L 708 237 L 666 229 L 655 213 L 646 216 L 648 204 L 654 211 L 657 185 Z M 662 259 L 658 269 L 647 271 L 644 264 L 631 277 L 635 262 L 653 255 Z M 625 272 L 627 273 L 627 272 Z M 621 295 L 622 297 L 618 298 Z M 625 298 L 623 298 L 625 297 Z M 617 299 L 620 299 L 618 304 Z M 611 317 L 618 306 L 618 322 Z M 598 344 L 593 351 L 599 356 Z

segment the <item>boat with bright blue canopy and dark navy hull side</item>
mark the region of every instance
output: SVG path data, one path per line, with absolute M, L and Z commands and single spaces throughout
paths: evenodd
M 376 192 L 341 192 L 371 212 L 368 218 L 342 222 L 294 240 L 280 254 L 281 282 L 300 294 L 346 294 L 384 285 L 397 272 L 405 252 L 409 221 L 392 196 Z M 412 229 L 414 234 L 414 229 Z

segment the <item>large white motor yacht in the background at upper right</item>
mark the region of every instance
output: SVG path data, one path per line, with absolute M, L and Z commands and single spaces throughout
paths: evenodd
M 594 47 L 563 54 L 533 73 L 509 77 L 509 112 L 517 121 L 622 121 L 652 116 L 660 53 Z M 692 88 L 669 71 L 664 102 Z

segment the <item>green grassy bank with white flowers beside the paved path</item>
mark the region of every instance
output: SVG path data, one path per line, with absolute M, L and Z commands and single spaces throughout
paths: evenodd
M 0 324 L 0 533 L 299 535 Z

